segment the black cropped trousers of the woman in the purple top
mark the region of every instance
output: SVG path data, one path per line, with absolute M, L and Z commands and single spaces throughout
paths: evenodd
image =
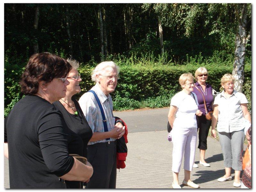
M 206 150 L 207 149 L 207 137 L 209 133 L 212 120 L 207 120 L 205 115 L 196 116 L 197 130 L 199 129 L 198 138 L 198 148 Z

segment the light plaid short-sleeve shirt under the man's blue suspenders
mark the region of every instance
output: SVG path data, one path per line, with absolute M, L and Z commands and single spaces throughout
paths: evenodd
M 113 116 L 113 102 L 112 102 L 111 96 L 110 94 L 106 96 L 101 91 L 98 84 L 94 85 L 91 90 L 95 91 L 95 93 L 99 97 L 100 103 L 104 110 L 104 114 L 106 116 L 108 131 L 110 131 L 115 126 L 115 118 Z M 79 99 L 78 102 L 80 104 L 80 107 L 82 108 L 82 111 L 84 112 L 84 116 L 88 124 L 92 129 L 92 133 L 104 132 L 103 119 L 100 113 L 100 107 L 94 95 L 91 92 L 86 92 L 82 95 L 82 97 Z M 103 139 L 99 141 L 89 142 L 88 145 L 92 145 L 95 143 L 103 143 L 108 141 L 115 141 L 115 140 L 116 140 L 115 138 L 110 138 L 110 140 Z

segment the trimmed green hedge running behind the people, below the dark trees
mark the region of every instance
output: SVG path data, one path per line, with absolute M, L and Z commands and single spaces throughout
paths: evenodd
M 195 61 L 193 58 L 189 58 L 189 63 L 186 65 L 171 63 L 163 65 L 153 61 L 144 64 L 141 60 L 138 63 L 133 61 L 127 63 L 127 60 L 123 63 L 122 60 L 114 60 L 120 66 L 120 79 L 116 91 L 111 93 L 114 110 L 169 106 L 172 96 L 181 90 L 179 85 L 180 75 L 187 72 L 194 75 L 199 67 L 208 69 L 208 83 L 216 91 L 220 91 L 220 78 L 225 73 L 232 73 L 233 64 L 230 62 L 213 63 L 211 60 L 211 62 L 202 62 L 204 64 L 199 65 L 198 59 Z M 94 82 L 91 81 L 92 66 L 94 65 L 96 64 L 89 66 L 82 63 L 80 65 L 78 70 L 83 79 L 80 83 L 82 91 L 75 96 L 76 99 L 79 99 L 94 85 Z M 4 116 L 7 116 L 13 105 L 23 96 L 19 93 L 18 81 L 24 68 L 20 68 L 18 65 L 13 66 L 5 59 L 4 70 Z M 243 92 L 249 100 L 249 110 L 251 109 L 251 71 L 251 64 L 245 65 Z

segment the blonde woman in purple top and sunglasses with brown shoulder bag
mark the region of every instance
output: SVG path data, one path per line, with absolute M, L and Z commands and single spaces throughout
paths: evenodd
M 213 96 L 212 96 L 212 86 L 206 83 L 208 78 L 208 71 L 204 67 L 200 67 L 195 72 L 195 78 L 197 82 L 195 83 L 194 93 L 196 93 L 198 100 L 198 110 L 196 112 L 197 129 L 199 129 L 199 144 L 198 148 L 200 150 L 200 161 L 201 165 L 205 167 L 210 167 L 210 164 L 206 163 L 204 160 L 205 150 L 207 149 L 207 136 L 211 126 L 212 121 L 207 120 L 205 117 L 206 111 L 204 107 L 204 99 L 206 102 L 206 108 L 209 111 L 213 111 Z M 199 89 L 197 89 L 197 88 Z M 204 99 L 203 99 L 204 95 Z M 193 167 L 198 167 L 194 164 Z

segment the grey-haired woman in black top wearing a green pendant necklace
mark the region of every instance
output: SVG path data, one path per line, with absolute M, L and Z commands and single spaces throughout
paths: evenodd
M 83 140 L 82 144 L 77 143 L 76 145 L 72 145 L 69 153 L 87 157 L 87 144 L 92 137 L 92 129 L 88 125 L 79 103 L 72 98 L 73 95 L 81 92 L 79 83 L 82 79 L 77 71 L 79 63 L 76 60 L 68 59 L 67 61 L 72 66 L 72 69 L 67 77 L 69 85 L 67 85 L 66 97 L 61 98 L 59 101 L 55 101 L 53 104 L 56 109 L 60 110 L 62 113 L 71 132 L 75 133 L 76 137 Z M 67 188 L 83 188 L 80 181 L 66 181 L 66 185 Z

